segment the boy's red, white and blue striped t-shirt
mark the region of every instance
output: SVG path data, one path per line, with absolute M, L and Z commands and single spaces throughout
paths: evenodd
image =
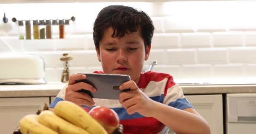
M 104 72 L 95 71 L 94 73 Z M 193 108 L 184 97 L 182 89 L 173 82 L 171 75 L 151 71 L 141 73 L 137 86 L 154 101 L 181 110 Z M 57 102 L 65 100 L 66 87 L 59 92 L 49 107 L 54 108 Z M 112 108 L 118 114 L 120 124 L 124 126 L 124 134 L 167 134 L 169 131 L 168 127 L 153 117 L 145 117 L 139 113 L 129 115 L 119 100 L 93 98 L 93 101 L 95 106 Z

